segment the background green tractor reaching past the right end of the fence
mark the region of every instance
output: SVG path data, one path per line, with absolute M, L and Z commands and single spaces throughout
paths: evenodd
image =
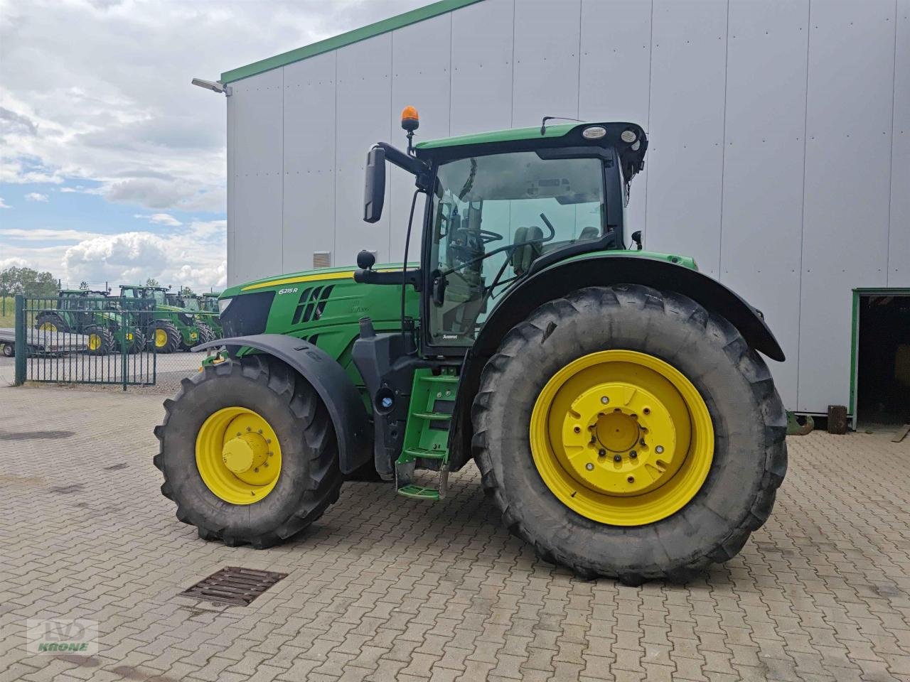
M 120 285 L 123 305 L 146 330 L 147 343 L 155 353 L 188 350 L 199 341 L 196 318 L 182 307 L 167 305 L 164 286 Z

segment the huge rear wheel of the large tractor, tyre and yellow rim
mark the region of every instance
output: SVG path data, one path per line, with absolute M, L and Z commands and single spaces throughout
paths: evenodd
M 624 365 L 594 364 L 609 358 Z M 576 369 L 586 366 L 592 369 Z M 629 373 L 622 376 L 632 378 L 617 373 L 623 366 Z M 588 383 L 572 383 L 582 381 Z M 653 389 L 650 397 L 636 382 Z M 614 389 L 619 399 L 604 395 Z M 671 400 L 673 391 L 682 397 Z M 640 396 L 641 405 L 634 402 Z M 638 406 L 630 414 L 624 405 Z M 661 426 L 670 437 L 659 440 L 658 418 L 680 414 L 663 422 L 672 425 Z M 484 490 L 511 532 L 581 577 L 617 577 L 626 585 L 685 582 L 733 558 L 771 513 L 786 473 L 786 412 L 762 357 L 722 316 L 647 286 L 583 288 L 537 308 L 484 367 L 472 420 Z M 632 427 L 632 439 L 611 446 L 615 452 L 603 445 L 620 437 L 612 426 L 601 431 L 607 423 Z M 661 456 L 671 464 L 655 456 L 664 452 L 655 441 L 672 443 L 669 457 Z M 688 449 L 677 448 L 683 442 Z M 682 457 L 674 459 L 677 451 Z M 701 479 L 687 477 L 696 471 Z M 623 489 L 627 481 L 645 492 Z M 582 506 L 588 500 L 595 502 Z M 648 506 L 650 500 L 663 506 Z M 654 517 L 645 514 L 655 509 Z

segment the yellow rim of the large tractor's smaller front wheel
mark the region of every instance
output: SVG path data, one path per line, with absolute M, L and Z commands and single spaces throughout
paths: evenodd
M 225 407 L 199 428 L 196 466 L 214 495 L 234 505 L 251 505 L 278 483 L 281 446 L 275 430 L 257 412 Z

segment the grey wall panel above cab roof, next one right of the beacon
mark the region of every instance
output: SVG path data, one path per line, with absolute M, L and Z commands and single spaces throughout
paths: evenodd
M 452 13 L 451 135 L 511 126 L 514 0 Z

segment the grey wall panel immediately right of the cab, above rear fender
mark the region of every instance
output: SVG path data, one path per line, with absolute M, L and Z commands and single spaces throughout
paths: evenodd
M 654 0 L 647 246 L 718 276 L 727 3 Z

